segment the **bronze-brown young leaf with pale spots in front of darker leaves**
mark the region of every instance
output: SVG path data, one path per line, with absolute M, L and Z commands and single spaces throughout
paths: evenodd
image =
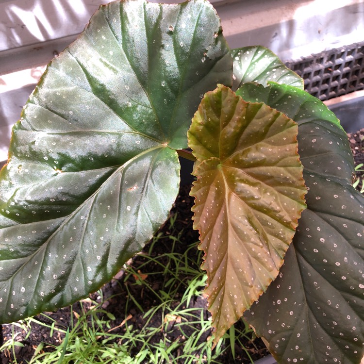
M 304 209 L 297 124 L 219 86 L 188 132 L 215 343 L 278 275 Z

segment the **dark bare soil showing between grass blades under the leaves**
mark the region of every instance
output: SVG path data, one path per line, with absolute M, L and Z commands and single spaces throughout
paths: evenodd
M 360 130 L 356 133 L 348 134 L 348 139 L 350 142 L 350 147 L 352 149 L 355 165 L 358 165 L 360 163 L 364 163 L 364 129 Z M 364 172 L 358 172 L 357 176 L 361 178 L 361 182 L 357 189 L 360 190 L 362 186 L 362 178 L 364 177 Z M 174 241 L 170 238 L 164 238 L 161 239 L 158 244 L 154 244 L 152 249 L 152 255 L 154 257 L 163 256 L 168 249 L 171 249 L 173 247 L 174 252 L 179 252 L 181 254 L 184 253 L 184 251 L 188 248 L 188 246 L 196 242 L 198 242 L 198 233 L 192 229 L 192 221 L 191 221 L 191 207 L 193 204 L 193 199 L 189 196 L 189 189 L 190 186 L 182 186 L 180 190 L 180 194 L 173 206 L 173 209 L 171 211 L 171 215 L 176 216 L 176 220 L 174 221 L 174 228 L 173 232 L 169 231 L 170 224 L 166 223 L 160 230 L 161 233 L 163 233 L 164 236 L 171 236 L 176 234 L 176 232 L 182 232 L 180 236 L 178 236 L 178 242 Z M 149 245 L 144 248 L 144 252 L 147 253 L 149 251 L 150 243 Z M 197 248 L 195 249 L 189 249 L 188 250 L 188 257 L 191 259 L 191 262 L 194 263 L 196 266 L 194 268 L 198 269 L 199 265 L 201 264 L 201 254 Z M 143 254 L 137 255 L 131 262 L 132 267 L 135 271 L 138 270 L 138 266 L 143 265 L 145 263 L 145 258 L 143 257 Z M 163 264 L 163 260 L 161 262 Z M 168 264 L 167 261 L 165 261 L 165 265 Z M 149 273 L 152 273 L 153 270 L 157 272 L 157 274 L 150 275 L 151 279 L 149 281 L 149 284 L 152 286 L 152 289 L 154 291 L 158 291 L 163 288 L 163 284 L 166 280 L 168 280 L 168 277 L 165 277 L 165 275 L 160 273 L 160 268 L 153 267 L 153 265 L 149 265 L 148 267 L 143 266 L 144 271 L 148 271 Z M 191 279 L 193 277 L 182 277 L 181 279 L 184 281 L 187 281 L 188 279 Z M 149 278 L 145 278 L 148 280 Z M 122 325 L 122 322 L 125 320 L 126 317 L 128 317 L 126 323 L 127 325 L 133 325 L 134 328 L 142 328 L 146 324 L 146 318 L 143 317 L 143 312 L 138 308 L 135 304 L 130 304 L 130 300 L 127 300 L 128 294 L 132 295 L 134 299 L 137 302 L 140 302 L 140 304 L 143 306 L 144 312 L 148 311 L 149 308 L 154 307 L 158 305 L 160 302 L 158 302 L 158 299 L 155 295 L 151 294 L 148 290 L 145 290 L 143 288 L 143 285 L 135 284 L 135 278 L 131 277 L 131 279 L 125 281 L 123 279 L 122 273 L 119 275 L 119 281 L 117 279 L 114 279 L 113 281 L 105 284 L 102 288 L 103 293 L 103 299 L 106 301 L 104 302 L 102 309 L 105 310 L 108 313 L 111 313 L 115 316 L 115 320 L 110 321 L 111 328 L 116 328 L 113 332 L 114 333 L 123 333 L 125 332 L 125 325 Z M 185 285 L 179 286 L 180 292 L 177 292 L 178 295 L 182 297 L 185 290 Z M 129 293 L 128 293 L 129 291 Z M 91 298 L 95 301 L 100 299 L 98 297 L 98 294 L 95 293 L 91 295 Z M 126 307 L 127 302 L 129 302 L 128 307 Z M 203 315 L 205 318 L 209 317 L 209 313 L 206 310 L 207 301 L 206 298 L 203 296 L 192 300 L 190 303 L 191 307 L 200 307 L 203 311 Z M 67 327 L 70 325 L 70 320 L 74 318 L 74 314 L 72 314 L 71 310 L 76 313 L 81 313 L 82 308 L 79 303 L 74 304 L 72 307 L 65 307 L 63 309 L 60 309 L 53 313 L 47 313 L 51 319 L 55 320 L 57 323 L 57 326 L 66 330 Z M 152 320 L 149 322 L 150 327 L 158 327 L 160 325 L 161 320 L 163 320 L 162 311 L 158 310 L 156 314 L 153 315 Z M 35 316 L 35 319 L 38 321 L 41 321 L 45 324 L 51 325 L 52 321 L 47 318 L 47 316 L 44 315 L 37 315 Z M 192 318 L 193 319 L 193 318 Z M 243 331 L 244 323 L 242 321 L 239 321 L 236 323 L 235 327 L 237 329 L 241 329 Z M 3 325 L 2 326 L 2 335 L 3 340 L 8 340 L 11 335 L 14 332 L 18 333 L 16 340 L 19 341 L 23 346 L 17 346 L 15 347 L 15 353 L 17 357 L 17 362 L 19 364 L 26 364 L 30 361 L 30 359 L 33 356 L 34 350 L 39 346 L 40 343 L 44 342 L 47 345 L 44 346 L 43 350 L 45 351 L 51 351 L 53 346 L 58 346 L 61 341 L 63 340 L 63 335 L 60 335 L 58 331 L 54 331 L 53 336 L 50 336 L 50 329 L 38 325 L 36 323 L 32 323 L 32 330 L 28 337 L 26 337 L 26 332 L 22 331 L 19 327 L 15 326 L 13 328 L 12 325 Z M 109 329 L 105 329 L 107 331 Z M 184 329 L 184 333 L 188 335 L 188 328 L 187 325 Z M 186 340 L 186 337 L 184 337 L 181 334 L 181 331 L 173 326 L 173 322 L 171 325 L 168 326 L 168 329 L 166 331 L 161 331 L 160 335 L 155 335 L 151 340 L 151 342 L 158 343 L 160 339 L 165 337 L 167 335 L 167 338 L 171 342 L 175 342 L 176 340 L 179 340 L 182 342 L 183 340 Z M 204 333 L 204 335 L 201 336 L 200 341 L 205 341 L 208 336 L 211 335 L 211 331 L 207 331 Z M 252 335 L 252 334 L 250 334 Z M 244 342 L 244 347 L 235 345 L 235 360 L 232 357 L 231 350 L 226 350 L 219 358 L 217 363 L 221 364 L 246 364 L 250 363 L 250 360 L 248 359 L 247 352 L 251 356 L 253 360 L 258 360 L 266 355 L 268 355 L 268 351 L 265 348 L 264 343 L 261 339 L 255 338 L 252 335 L 252 338 L 254 340 L 251 340 L 249 337 L 246 338 Z M 1 341 L 1 337 L 0 337 Z M 50 345 L 49 345 L 50 344 Z M 1 346 L 1 343 L 0 343 Z M 181 348 L 179 349 L 181 350 Z M 135 355 L 138 352 L 138 348 L 132 350 L 131 355 Z M 10 351 L 4 351 L 0 353 L 0 363 L 1 364 L 8 364 L 14 362 L 14 356 L 13 353 Z M 216 362 L 215 362 L 216 363 Z M 183 364 L 181 362 L 181 364 Z

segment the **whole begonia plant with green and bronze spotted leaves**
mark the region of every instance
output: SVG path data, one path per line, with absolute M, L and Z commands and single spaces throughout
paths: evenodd
M 244 39 L 242 39 L 242 42 Z M 195 161 L 215 344 L 241 317 L 279 363 L 357 363 L 364 197 L 335 115 L 204 0 L 102 5 L 47 67 L 0 171 L 0 322 L 87 297 L 168 217 Z

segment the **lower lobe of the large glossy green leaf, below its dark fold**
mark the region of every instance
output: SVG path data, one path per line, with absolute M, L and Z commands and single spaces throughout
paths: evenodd
M 165 221 L 178 191 L 177 164 L 169 148 L 148 150 L 72 214 L 1 229 L 2 322 L 63 307 L 111 279 Z

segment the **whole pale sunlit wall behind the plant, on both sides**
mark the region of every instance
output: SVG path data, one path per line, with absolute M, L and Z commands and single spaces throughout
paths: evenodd
M 109 1 L 0 0 L 0 161 L 44 65 Z M 288 60 L 364 40 L 364 0 L 211 2 L 232 48 L 259 44 Z

